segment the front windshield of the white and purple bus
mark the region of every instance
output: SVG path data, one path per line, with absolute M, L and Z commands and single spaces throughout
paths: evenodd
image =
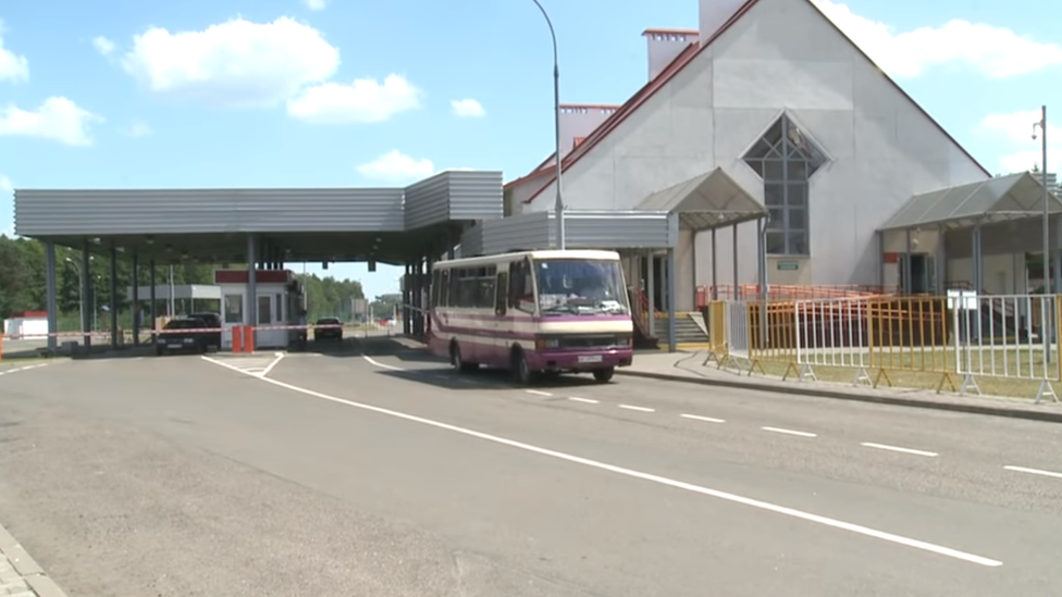
M 534 261 L 543 315 L 628 315 L 623 272 L 618 261 Z

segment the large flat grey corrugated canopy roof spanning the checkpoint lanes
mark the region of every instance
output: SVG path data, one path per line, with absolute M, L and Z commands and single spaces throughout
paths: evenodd
M 502 217 L 502 173 L 450 171 L 405 188 L 15 190 L 15 233 L 157 263 L 405 263 Z M 448 245 L 448 246 L 447 246 Z

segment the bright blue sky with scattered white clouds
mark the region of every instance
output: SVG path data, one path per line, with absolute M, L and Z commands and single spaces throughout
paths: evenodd
M 1048 170 L 1062 160 L 1062 2 L 813 1 L 989 170 L 1040 162 L 1052 101 Z M 641 33 L 697 26 L 697 0 L 542 3 L 568 103 L 622 103 L 645 83 Z M 532 0 L 4 0 L 0 233 L 13 188 L 514 179 L 552 153 L 552 76 Z M 400 269 L 323 273 L 372 297 Z

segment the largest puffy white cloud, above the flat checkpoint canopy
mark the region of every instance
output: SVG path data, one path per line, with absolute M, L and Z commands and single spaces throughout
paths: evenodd
M 328 80 L 339 51 L 293 18 L 233 18 L 199 32 L 151 27 L 133 39 L 123 66 L 152 92 L 222 107 L 271 107 Z

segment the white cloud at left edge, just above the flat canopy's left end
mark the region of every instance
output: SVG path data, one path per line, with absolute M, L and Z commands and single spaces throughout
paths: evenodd
M 86 146 L 92 145 L 90 126 L 100 122 L 103 122 L 101 116 L 63 97 L 48 98 L 33 111 L 14 104 L 0 107 L 0 137 L 40 137 Z

